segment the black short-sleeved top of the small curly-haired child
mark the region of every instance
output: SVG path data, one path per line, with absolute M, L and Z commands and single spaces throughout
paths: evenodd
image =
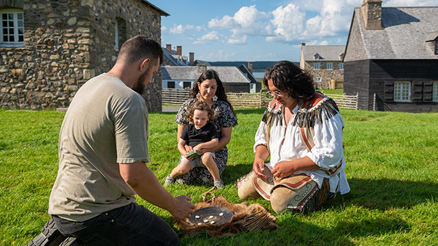
M 211 139 L 219 138 L 214 124 L 207 123 L 203 128 L 196 129 L 193 124 L 188 124 L 181 134 L 181 139 L 187 142 L 189 146 L 197 146 L 199 143 L 205 143 Z

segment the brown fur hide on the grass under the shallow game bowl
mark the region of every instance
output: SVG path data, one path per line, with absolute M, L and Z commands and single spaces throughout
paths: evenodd
M 207 232 L 209 236 L 229 236 L 242 231 L 257 231 L 257 230 L 275 230 L 276 217 L 261 206 L 261 204 L 246 205 L 246 202 L 241 204 L 231 204 L 224 197 L 214 197 L 212 202 L 198 202 L 195 204 L 195 210 L 220 206 L 232 210 L 234 215 L 231 221 L 224 223 L 222 226 L 214 226 L 209 224 L 192 225 L 188 221 L 177 221 L 183 236 L 196 236 L 201 232 Z

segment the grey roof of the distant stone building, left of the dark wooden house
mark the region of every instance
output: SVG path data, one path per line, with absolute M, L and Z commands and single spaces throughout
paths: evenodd
M 302 46 L 302 55 L 305 61 L 314 61 L 315 55 L 320 60 L 342 61 L 345 45 L 305 45 Z

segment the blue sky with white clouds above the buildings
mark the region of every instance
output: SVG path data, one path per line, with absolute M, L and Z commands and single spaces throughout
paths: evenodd
M 162 46 L 207 61 L 299 61 L 300 45 L 345 45 L 363 0 L 150 0 L 162 16 Z M 383 7 L 436 0 L 383 0 Z

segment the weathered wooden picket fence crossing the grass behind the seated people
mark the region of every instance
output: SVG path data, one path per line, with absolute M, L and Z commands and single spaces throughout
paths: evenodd
M 162 89 L 162 103 L 168 105 L 181 105 L 185 100 L 188 99 L 189 90 L 182 89 Z M 337 94 L 326 94 L 330 98 L 335 100 L 337 107 L 340 109 L 357 109 L 357 99 L 356 96 L 345 96 Z M 268 105 L 272 96 L 268 94 L 266 90 L 261 90 L 259 93 L 227 93 L 228 100 L 231 102 L 233 107 L 240 108 L 264 108 Z

